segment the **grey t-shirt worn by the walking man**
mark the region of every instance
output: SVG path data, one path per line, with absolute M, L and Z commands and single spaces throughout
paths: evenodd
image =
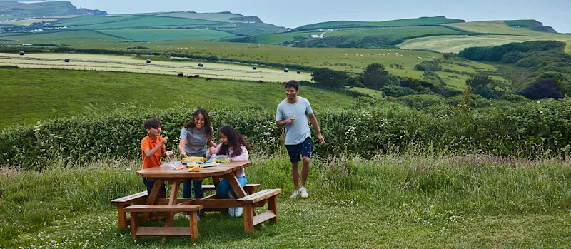
M 295 116 L 295 121 L 292 124 L 285 125 L 285 145 L 300 144 L 305 141 L 305 138 L 311 137 L 308 124 L 308 115 L 310 114 L 313 114 L 313 110 L 307 98 L 298 96 L 297 103 L 288 103 L 285 99 L 281 101 L 278 105 L 276 121 L 283 121 Z

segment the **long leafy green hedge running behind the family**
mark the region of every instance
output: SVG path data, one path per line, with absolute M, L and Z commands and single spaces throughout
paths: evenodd
M 430 148 L 527 157 L 568 155 L 571 150 L 571 123 L 567 122 L 571 119 L 570 98 L 522 102 L 505 108 L 486 99 L 475 100 L 474 106 L 486 107 L 478 112 L 457 108 L 461 98 L 433 95 L 399 98 L 412 108 L 371 101 L 363 98 L 359 106 L 347 110 L 315 110 L 328 141 L 324 145 L 316 143 L 315 153 L 373 156 Z M 435 115 L 423 108 L 445 112 Z M 110 113 L 6 128 L 0 133 L 0 165 L 41 169 L 49 160 L 81 164 L 98 158 L 138 158 L 140 141 L 146 136 L 142 124 L 151 117 L 163 122 L 163 135 L 171 138 L 167 146 L 177 151 L 176 138 L 193 111 L 188 106 L 167 110 L 127 106 Z M 210 111 L 215 129 L 224 124 L 234 126 L 253 143 L 256 152 L 273 154 L 283 150 L 283 129 L 274 124 L 275 109 L 244 106 Z

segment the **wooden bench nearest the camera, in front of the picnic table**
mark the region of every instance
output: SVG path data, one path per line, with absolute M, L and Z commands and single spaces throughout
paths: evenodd
M 131 235 L 133 240 L 138 240 L 138 236 L 155 235 L 155 236 L 191 236 L 194 242 L 198 238 L 198 226 L 196 219 L 196 211 L 201 210 L 202 205 L 131 205 L 124 208 L 125 212 L 130 212 L 131 217 L 137 217 L 136 213 L 148 212 L 171 212 L 180 213 L 188 212 L 191 216 L 190 229 L 176 227 L 139 227 L 138 218 L 131 218 Z

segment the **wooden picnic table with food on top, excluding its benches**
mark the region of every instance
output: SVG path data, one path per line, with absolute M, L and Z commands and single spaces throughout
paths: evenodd
M 183 170 L 173 169 L 173 166 L 181 165 L 180 161 L 164 163 L 161 166 L 146 168 L 137 171 L 137 175 L 141 177 L 148 178 L 149 181 L 155 181 L 151 194 L 148 195 L 146 200 L 146 205 L 203 205 L 203 210 L 218 210 L 223 211 L 226 208 L 231 207 L 242 207 L 243 202 L 238 201 L 238 199 L 218 199 L 216 194 L 206 196 L 201 199 L 183 199 L 178 198 L 178 189 L 182 183 L 192 179 L 192 181 L 203 180 L 206 178 L 213 178 L 214 186 L 218 186 L 220 178 L 228 179 L 228 182 L 232 186 L 234 192 L 238 198 L 246 197 L 246 191 L 240 186 L 238 178 L 236 178 L 235 173 L 241 168 L 246 168 L 251 166 L 250 161 L 231 161 L 230 163 L 221 163 L 218 166 L 201 168 L 199 172 L 188 172 L 186 167 Z M 168 181 L 171 185 L 171 193 L 168 198 L 158 198 L 159 190 L 161 186 Z M 245 214 L 246 215 L 246 214 Z M 149 213 L 143 213 L 143 224 L 148 220 Z M 173 225 L 174 213 L 168 213 L 166 217 L 165 227 L 170 228 Z M 149 235 L 163 235 L 160 230 L 156 230 L 156 233 Z M 165 238 L 165 237 L 163 237 Z

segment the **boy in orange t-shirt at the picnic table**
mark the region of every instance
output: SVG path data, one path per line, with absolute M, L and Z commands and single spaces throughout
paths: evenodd
M 141 151 L 143 151 L 143 166 L 141 169 L 153 168 L 161 165 L 161 156 L 171 157 L 173 156 L 172 151 L 166 151 L 166 142 L 168 137 L 161 136 L 161 121 L 156 118 L 151 118 L 145 121 L 145 129 L 148 135 L 141 140 Z M 151 189 L 155 181 L 147 181 L 147 178 L 143 177 L 143 183 L 147 187 L 147 193 L 151 195 Z M 161 192 L 159 195 L 166 195 L 165 186 L 161 186 Z

